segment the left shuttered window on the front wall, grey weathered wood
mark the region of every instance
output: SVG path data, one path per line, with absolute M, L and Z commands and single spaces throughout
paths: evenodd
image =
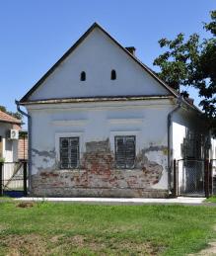
M 79 156 L 79 137 L 60 137 L 60 168 L 77 168 Z

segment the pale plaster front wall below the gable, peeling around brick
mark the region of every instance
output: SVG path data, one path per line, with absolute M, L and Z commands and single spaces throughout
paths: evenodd
M 29 106 L 32 117 L 33 174 L 51 168 L 58 158 L 56 139 L 62 134 L 81 136 L 81 154 L 88 141 L 110 141 L 114 149 L 114 135 L 136 135 L 136 154 L 150 146 L 167 146 L 167 116 L 173 109 L 169 100 L 143 102 L 108 102 L 92 104 L 62 104 Z M 57 148 L 56 148 L 57 147 Z M 47 154 L 54 151 L 55 159 Z M 43 152 L 43 153 L 42 153 Z M 148 152 L 150 161 L 161 164 L 165 171 L 158 189 L 167 189 L 167 153 Z M 81 155 L 82 157 L 82 155 Z

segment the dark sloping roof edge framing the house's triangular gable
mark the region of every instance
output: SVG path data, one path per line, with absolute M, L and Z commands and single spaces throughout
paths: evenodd
M 86 33 L 76 42 L 74 43 L 65 53 L 64 55 L 36 82 L 35 86 L 20 100 L 20 103 L 29 102 L 29 97 L 36 91 L 36 89 L 45 81 L 45 79 L 59 66 L 59 64 L 67 58 L 67 56 L 80 44 L 82 43 L 90 33 L 98 28 L 104 34 L 108 36 L 108 38 L 115 44 L 117 44 L 126 54 L 128 54 L 136 63 L 138 63 L 146 72 L 148 72 L 155 80 L 157 80 L 163 87 L 165 87 L 171 95 L 175 97 L 179 97 L 179 95 L 164 81 L 162 81 L 148 66 L 143 64 L 138 58 L 136 58 L 133 54 L 131 54 L 125 47 L 123 47 L 120 43 L 115 41 L 109 34 L 106 32 L 98 23 L 94 23 Z M 25 104 L 24 104 L 25 105 Z

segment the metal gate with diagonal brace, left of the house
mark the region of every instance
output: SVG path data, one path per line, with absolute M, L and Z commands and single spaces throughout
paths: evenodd
M 23 197 L 27 190 L 27 161 L 0 163 L 0 196 Z

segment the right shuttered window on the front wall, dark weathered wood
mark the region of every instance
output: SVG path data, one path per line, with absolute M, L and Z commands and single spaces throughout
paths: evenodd
M 120 169 L 133 168 L 135 164 L 135 136 L 115 136 L 115 163 Z

